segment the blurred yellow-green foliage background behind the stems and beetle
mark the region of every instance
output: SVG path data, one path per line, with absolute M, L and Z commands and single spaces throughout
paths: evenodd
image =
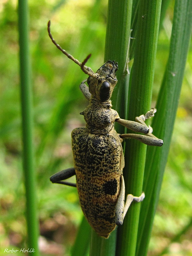
M 75 58 L 82 61 L 92 53 L 88 65 L 97 70 L 104 59 L 107 1 L 30 0 L 29 8 L 40 245 L 48 247 L 48 241 L 54 240 L 58 244 L 52 244 L 55 251 L 41 249 L 42 255 L 69 255 L 82 217 L 77 192 L 75 188 L 52 185 L 49 177 L 73 165 L 70 133 L 85 124 L 79 113 L 88 102 L 78 85 L 86 77 L 52 44 L 47 22 L 52 21 L 51 31 L 57 43 Z M 168 58 L 172 13 L 173 3 L 159 34 L 153 106 Z M 0 29 L 0 247 L 17 249 L 24 248 L 26 240 L 17 1 L 0 3 Z M 190 48 L 149 255 L 161 255 L 171 241 L 174 243 L 166 255 L 192 253 L 191 59 Z

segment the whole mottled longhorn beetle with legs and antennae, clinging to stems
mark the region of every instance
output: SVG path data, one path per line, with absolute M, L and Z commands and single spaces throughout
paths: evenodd
M 152 108 L 145 115 L 136 117 L 136 122 L 121 119 L 111 108 L 110 100 L 117 83 L 117 62 L 108 60 L 94 73 L 85 66 L 91 54 L 82 63 L 76 60 L 53 39 L 50 25 L 49 21 L 48 33 L 53 44 L 89 76 L 80 85 L 89 100 L 89 106 L 80 113 L 84 115 L 86 127 L 75 128 L 71 134 L 74 167 L 52 175 L 50 180 L 52 183 L 77 187 L 81 208 L 89 224 L 98 235 L 108 238 L 116 225 L 123 224 L 132 201 L 140 202 L 145 197 L 144 193 L 140 196 L 129 194 L 124 204 L 124 155 L 121 143 L 125 138 L 132 138 L 147 145 L 162 146 L 163 140 L 156 138 L 152 128 L 145 124 L 146 119 L 154 116 L 156 109 Z M 145 135 L 118 134 L 114 122 Z M 76 175 L 76 184 L 62 181 L 73 175 Z

